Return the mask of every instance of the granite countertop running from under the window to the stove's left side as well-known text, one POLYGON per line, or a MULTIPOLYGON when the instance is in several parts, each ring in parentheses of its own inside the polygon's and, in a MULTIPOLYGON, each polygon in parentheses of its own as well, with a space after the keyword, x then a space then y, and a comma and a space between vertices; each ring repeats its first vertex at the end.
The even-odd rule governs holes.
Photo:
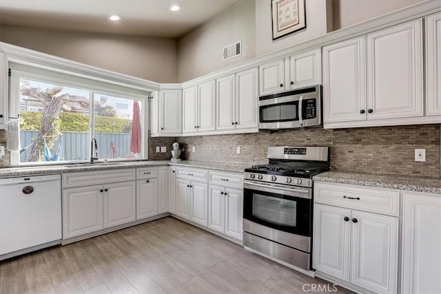
POLYGON ((0 178, 12 176, 32 176, 44 174, 64 174, 79 171, 103 171, 106 169, 128 169, 136 167, 159 167, 165 165, 176 165, 183 167, 197 167, 201 169, 215 169, 218 171, 231 171, 243 173, 244 169, 251 166, 240 163, 209 162, 196 160, 183 160, 170 162, 170 160, 141 160, 132 162, 97 162, 94 164, 79 163, 73 165, 45 165, 35 167, 7 167, 0 168, 0 178))

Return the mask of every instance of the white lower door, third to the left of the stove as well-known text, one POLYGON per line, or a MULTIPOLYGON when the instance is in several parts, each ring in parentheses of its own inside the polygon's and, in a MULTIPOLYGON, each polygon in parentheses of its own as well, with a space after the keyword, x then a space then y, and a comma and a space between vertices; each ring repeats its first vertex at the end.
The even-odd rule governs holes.
POLYGON ((201 182, 192 182, 190 184, 192 191, 192 218, 193 222, 197 222, 198 224, 202 224, 207 227, 208 224, 208 209, 207 209, 207 200, 208 200, 208 185, 203 184, 201 182))

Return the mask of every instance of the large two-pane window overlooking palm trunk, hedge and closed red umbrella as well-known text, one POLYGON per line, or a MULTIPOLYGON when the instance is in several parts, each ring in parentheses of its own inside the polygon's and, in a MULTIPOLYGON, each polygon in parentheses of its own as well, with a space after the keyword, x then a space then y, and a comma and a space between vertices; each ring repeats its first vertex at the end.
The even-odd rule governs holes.
POLYGON ((89 160, 92 138, 99 159, 147 158, 148 92, 25 65, 11 72, 10 113, 20 114, 21 143, 13 164, 89 160))

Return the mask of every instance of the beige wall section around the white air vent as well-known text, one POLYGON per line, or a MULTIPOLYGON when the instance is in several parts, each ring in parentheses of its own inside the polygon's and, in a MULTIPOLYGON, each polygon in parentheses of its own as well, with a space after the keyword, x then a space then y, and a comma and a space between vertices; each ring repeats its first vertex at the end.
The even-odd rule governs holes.
POLYGON ((254 0, 234 8, 178 39, 178 82, 252 59, 256 56, 254 0), (222 48, 242 40, 242 55, 222 61, 222 48))

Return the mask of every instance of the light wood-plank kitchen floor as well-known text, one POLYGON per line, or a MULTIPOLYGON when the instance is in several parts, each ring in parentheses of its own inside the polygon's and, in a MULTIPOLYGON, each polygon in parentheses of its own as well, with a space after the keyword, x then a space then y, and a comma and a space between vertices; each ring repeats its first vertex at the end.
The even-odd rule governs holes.
POLYGON ((304 284, 333 289, 171 217, 0 264, 1 294, 305 293, 304 284))

